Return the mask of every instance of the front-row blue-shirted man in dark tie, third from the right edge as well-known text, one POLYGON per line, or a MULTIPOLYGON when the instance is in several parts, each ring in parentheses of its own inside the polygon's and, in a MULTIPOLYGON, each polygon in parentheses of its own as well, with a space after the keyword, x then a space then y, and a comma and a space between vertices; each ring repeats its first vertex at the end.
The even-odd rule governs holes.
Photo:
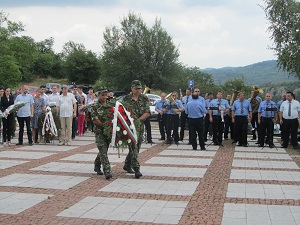
POLYGON ((235 133, 239 142, 238 146, 248 147, 248 116, 249 121, 251 121, 252 108, 250 102, 248 100, 245 100, 244 92, 239 93, 239 99, 234 101, 231 110, 232 123, 235 124, 235 133))

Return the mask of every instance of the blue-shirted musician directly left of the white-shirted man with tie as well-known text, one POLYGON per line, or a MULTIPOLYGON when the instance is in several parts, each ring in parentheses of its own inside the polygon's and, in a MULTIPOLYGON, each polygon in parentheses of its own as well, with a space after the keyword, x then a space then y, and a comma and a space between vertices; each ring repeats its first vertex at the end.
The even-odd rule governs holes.
POLYGON ((259 104, 258 107, 258 123, 260 124, 260 135, 259 135, 259 147, 263 147, 264 143, 267 143, 270 148, 274 148, 273 144, 273 132, 274 122, 277 121, 277 104, 271 101, 271 94, 267 93, 265 100, 259 104), (267 131, 267 138, 265 141, 267 131))

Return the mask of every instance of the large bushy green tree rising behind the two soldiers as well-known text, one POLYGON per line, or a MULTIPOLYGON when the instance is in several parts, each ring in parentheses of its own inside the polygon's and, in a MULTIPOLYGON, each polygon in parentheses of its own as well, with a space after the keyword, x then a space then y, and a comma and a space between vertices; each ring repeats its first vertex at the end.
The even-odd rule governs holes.
POLYGON ((120 28, 107 27, 103 37, 102 70, 108 86, 125 90, 139 79, 150 88, 166 89, 177 79, 179 52, 160 20, 149 28, 129 13, 120 28))

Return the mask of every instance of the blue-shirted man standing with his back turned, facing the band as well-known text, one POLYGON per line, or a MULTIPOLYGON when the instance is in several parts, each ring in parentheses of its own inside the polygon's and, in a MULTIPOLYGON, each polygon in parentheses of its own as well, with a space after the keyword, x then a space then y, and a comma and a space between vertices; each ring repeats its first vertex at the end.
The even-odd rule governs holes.
POLYGON ((201 150, 205 150, 203 138, 203 117, 207 113, 205 105, 198 101, 198 95, 193 94, 192 100, 187 104, 186 114, 189 118, 189 127, 191 134, 191 144, 193 150, 197 150, 197 133, 201 150))

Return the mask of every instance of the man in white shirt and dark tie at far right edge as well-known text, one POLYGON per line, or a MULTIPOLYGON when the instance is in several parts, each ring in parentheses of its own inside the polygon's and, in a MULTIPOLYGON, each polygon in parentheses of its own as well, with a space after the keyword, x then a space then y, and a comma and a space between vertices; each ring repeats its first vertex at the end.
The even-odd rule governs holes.
POLYGON ((299 126, 298 118, 300 117, 300 103, 295 100, 293 92, 286 93, 286 101, 280 106, 279 118, 283 131, 282 147, 287 148, 289 136, 294 149, 298 148, 297 131, 299 126))

